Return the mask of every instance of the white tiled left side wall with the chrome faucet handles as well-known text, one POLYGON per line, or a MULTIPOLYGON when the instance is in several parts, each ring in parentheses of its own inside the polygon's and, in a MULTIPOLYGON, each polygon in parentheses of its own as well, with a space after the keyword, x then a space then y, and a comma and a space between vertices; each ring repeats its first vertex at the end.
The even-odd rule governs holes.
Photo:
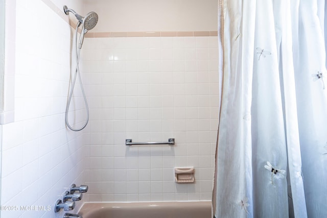
POLYGON ((2 126, 1 205, 18 210, 1 210, 1 217, 62 217, 55 202, 85 181, 89 130, 75 133, 64 124, 72 32, 42 1, 16 1, 15 122, 2 126))

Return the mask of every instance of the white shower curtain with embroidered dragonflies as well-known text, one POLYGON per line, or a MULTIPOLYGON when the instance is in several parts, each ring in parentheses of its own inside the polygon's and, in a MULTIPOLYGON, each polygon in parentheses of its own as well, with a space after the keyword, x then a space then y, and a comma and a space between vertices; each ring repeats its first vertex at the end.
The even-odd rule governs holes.
POLYGON ((219 0, 214 217, 327 217, 325 4, 219 0))

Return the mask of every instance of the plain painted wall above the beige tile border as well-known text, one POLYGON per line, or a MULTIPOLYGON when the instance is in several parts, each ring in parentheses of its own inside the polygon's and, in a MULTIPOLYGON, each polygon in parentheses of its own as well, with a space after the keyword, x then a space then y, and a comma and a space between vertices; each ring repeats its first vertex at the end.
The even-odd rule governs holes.
POLYGON ((216 0, 84 0, 95 32, 217 31, 216 0))

